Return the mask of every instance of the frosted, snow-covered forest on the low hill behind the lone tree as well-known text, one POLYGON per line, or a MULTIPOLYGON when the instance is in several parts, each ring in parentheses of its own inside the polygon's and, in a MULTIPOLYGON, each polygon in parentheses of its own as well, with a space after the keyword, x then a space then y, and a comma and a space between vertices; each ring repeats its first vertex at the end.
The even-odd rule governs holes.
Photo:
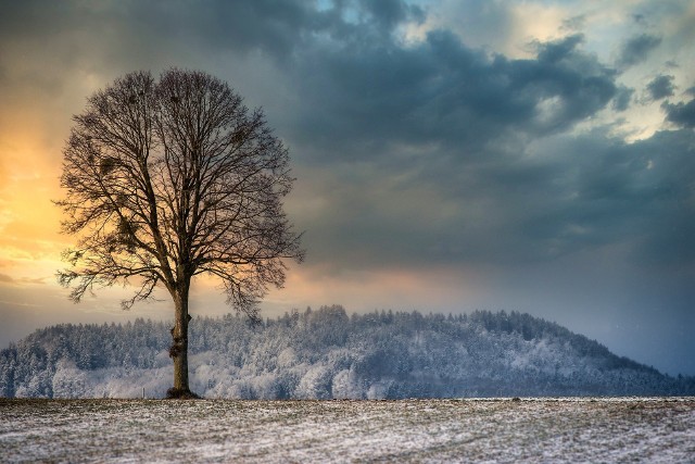
MULTIPOLYGON (((164 397, 170 324, 58 325, 0 351, 0 396, 164 397)), ((198 317, 193 391, 205 398, 382 399, 695 394, 557 324, 516 312, 445 316, 293 311, 252 325, 198 317)))

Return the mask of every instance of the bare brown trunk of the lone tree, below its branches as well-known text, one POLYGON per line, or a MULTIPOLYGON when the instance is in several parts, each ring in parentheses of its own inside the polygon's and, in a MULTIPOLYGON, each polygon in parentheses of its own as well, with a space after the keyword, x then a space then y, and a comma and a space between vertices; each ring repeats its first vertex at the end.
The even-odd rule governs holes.
POLYGON ((166 392, 167 398, 198 398, 188 386, 188 323, 191 319, 188 314, 189 288, 190 281, 182 283, 172 296, 175 317, 169 356, 174 361, 174 387, 166 392))

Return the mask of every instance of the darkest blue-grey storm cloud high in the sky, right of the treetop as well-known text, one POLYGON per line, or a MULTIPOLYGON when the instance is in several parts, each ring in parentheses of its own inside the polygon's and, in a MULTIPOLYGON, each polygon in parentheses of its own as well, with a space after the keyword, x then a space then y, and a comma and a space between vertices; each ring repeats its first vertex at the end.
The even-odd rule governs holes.
POLYGON ((581 42, 538 43, 529 60, 490 58, 441 30, 413 47, 392 39, 318 45, 299 67, 311 111, 298 133, 340 140, 343 150, 329 155, 372 158, 375 142, 455 146, 468 156, 509 133, 561 131, 618 91, 615 73, 581 42))

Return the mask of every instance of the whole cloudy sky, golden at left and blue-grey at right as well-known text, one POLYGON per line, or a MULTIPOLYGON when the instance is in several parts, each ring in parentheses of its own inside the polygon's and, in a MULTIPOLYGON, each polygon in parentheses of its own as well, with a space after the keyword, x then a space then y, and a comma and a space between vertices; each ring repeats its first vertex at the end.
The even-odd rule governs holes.
MULTIPOLYGON (((264 314, 341 303, 528 312, 695 375, 690 0, 0 0, 0 346, 74 305, 54 273, 62 149, 136 70, 203 70, 262 106, 306 230, 264 314)), ((165 298, 163 296, 163 298, 165 298)), ((193 314, 223 314, 195 285, 193 314)))

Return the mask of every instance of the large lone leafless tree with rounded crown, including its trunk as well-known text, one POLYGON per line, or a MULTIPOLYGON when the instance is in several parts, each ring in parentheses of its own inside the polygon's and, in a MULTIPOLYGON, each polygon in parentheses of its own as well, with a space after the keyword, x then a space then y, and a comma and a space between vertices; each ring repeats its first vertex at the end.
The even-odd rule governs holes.
POLYGON ((168 290, 174 387, 191 397, 188 325, 191 280, 217 277, 228 303, 257 318, 269 286, 281 287, 285 259, 303 259, 282 210, 292 187, 288 150, 260 110, 201 72, 169 70, 159 81, 138 72, 88 99, 64 149, 56 202, 62 230, 78 235, 58 273, 79 302, 86 292, 135 284, 129 309, 168 290))

